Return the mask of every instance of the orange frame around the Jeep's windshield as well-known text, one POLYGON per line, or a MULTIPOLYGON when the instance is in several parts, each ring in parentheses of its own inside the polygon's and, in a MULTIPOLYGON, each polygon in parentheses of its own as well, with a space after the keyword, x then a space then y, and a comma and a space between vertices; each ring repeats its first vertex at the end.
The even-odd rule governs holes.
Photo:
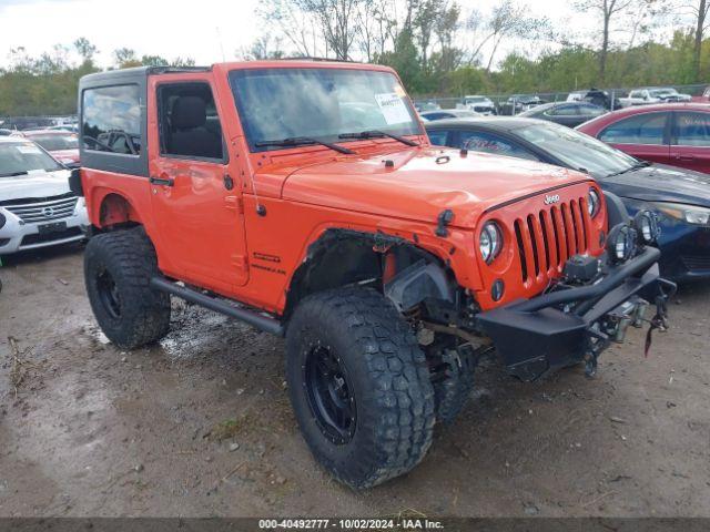
MULTIPOLYGON (((410 116, 410 122, 403 122, 402 124, 410 124, 412 125, 412 130, 414 132, 408 132, 405 131, 403 132, 403 127, 402 124, 394 124, 394 126, 387 126, 387 125, 378 125, 377 127, 372 127, 372 126, 367 126, 364 125, 363 127, 347 127, 347 129, 343 129, 343 131, 338 131, 335 134, 332 135, 313 135, 313 134, 304 134, 302 135, 301 133, 296 134, 296 135, 287 135, 290 136, 307 136, 311 139, 314 139, 316 141, 321 141, 321 142, 327 142, 327 143, 332 143, 332 144, 347 144, 347 143, 353 143, 353 142, 364 142, 364 141, 369 141, 371 140, 366 140, 366 139, 341 139, 338 135, 343 134, 343 133, 361 133, 362 131, 366 131, 366 130, 382 130, 385 132, 389 132, 389 133, 394 133, 404 137, 410 137, 410 136, 415 136, 415 137, 420 137, 420 136, 425 136, 424 133, 424 126, 422 124, 422 120, 419 119, 419 114, 415 109, 415 105, 412 101, 412 99, 409 98, 409 95, 404 91, 404 85, 402 83, 402 80, 399 79, 399 76, 397 75, 396 72, 394 72, 392 69, 388 68, 373 68, 372 65, 358 65, 358 64, 353 64, 353 65, 344 65, 344 64, 306 64, 304 65, 303 63, 294 63, 294 64, 283 64, 283 65, 278 65, 278 66, 254 66, 254 68, 239 68, 239 69, 231 69, 227 72, 227 81, 229 81, 229 85, 230 85, 230 90, 234 96, 234 103, 235 103, 235 108, 236 108, 236 113, 237 116, 240 119, 240 123, 242 126, 242 130, 244 132, 244 136, 246 140, 246 144, 248 146, 250 153, 264 153, 264 152, 274 152, 274 151, 298 151, 298 152, 303 152, 303 151, 307 151, 308 149, 313 149, 314 144, 301 144, 301 145, 292 145, 292 146, 260 146, 258 143, 260 142, 267 142, 267 141, 277 141, 277 140, 284 140, 287 136, 284 135, 283 139, 258 139, 257 136, 255 136, 253 134, 253 131, 251 131, 250 129, 250 123, 248 120, 246 119, 246 113, 243 112, 244 109, 246 109, 246 102, 244 101, 244 98, 242 96, 241 91, 239 90, 239 80, 242 76, 248 76, 248 75, 258 75, 258 73, 264 73, 264 72, 272 72, 272 71, 313 71, 313 72, 343 72, 343 71, 347 71, 347 72, 363 72, 366 74, 381 74, 381 75, 389 75, 394 79, 394 81, 396 82, 397 86, 399 89, 402 89, 403 91, 403 95, 400 95, 399 98, 402 99, 406 111, 408 112, 409 116, 410 116)), ((274 105, 283 105, 283 102, 281 101, 276 101, 274 100, 274 105)), ((436 110, 434 110, 436 111, 436 110)), ((384 140, 384 141, 392 141, 390 139, 387 139, 386 136, 383 139, 377 139, 379 140, 384 140)))

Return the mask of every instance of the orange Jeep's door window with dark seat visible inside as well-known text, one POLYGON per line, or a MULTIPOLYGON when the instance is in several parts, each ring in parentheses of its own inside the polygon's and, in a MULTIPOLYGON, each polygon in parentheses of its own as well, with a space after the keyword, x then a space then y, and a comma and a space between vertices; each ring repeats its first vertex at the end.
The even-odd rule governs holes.
POLYGON ((159 85, 158 120, 161 155, 224 161, 222 125, 209 83, 159 85))

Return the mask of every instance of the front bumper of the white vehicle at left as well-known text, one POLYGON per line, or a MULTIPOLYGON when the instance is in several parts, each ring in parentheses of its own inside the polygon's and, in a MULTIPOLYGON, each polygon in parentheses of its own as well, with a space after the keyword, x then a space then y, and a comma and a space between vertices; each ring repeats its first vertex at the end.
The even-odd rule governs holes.
POLYGON ((47 222, 23 222, 2 207, 0 211, 7 218, 6 224, 0 227, 0 255, 78 242, 85 238, 89 228, 83 198, 79 198, 71 215, 47 222), (51 223, 65 223, 67 227, 63 231, 40 234, 40 225, 51 223))

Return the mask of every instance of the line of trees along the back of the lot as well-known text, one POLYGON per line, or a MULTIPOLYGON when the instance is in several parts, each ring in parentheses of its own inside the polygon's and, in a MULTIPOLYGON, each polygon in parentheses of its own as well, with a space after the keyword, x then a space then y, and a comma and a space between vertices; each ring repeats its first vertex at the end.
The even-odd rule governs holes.
MULTIPOLYGON (((572 0, 594 20, 577 34, 523 0, 489 10, 465 0, 264 0, 263 33, 234 59, 322 57, 387 64, 416 96, 690 84, 710 80, 708 0, 572 0), (672 31, 668 31, 672 30, 672 31)), ((0 69, 0 115, 70 113, 77 83, 99 69, 84 38, 39 58, 10 51, 0 69)), ((190 65, 122 48, 111 68, 190 65)))

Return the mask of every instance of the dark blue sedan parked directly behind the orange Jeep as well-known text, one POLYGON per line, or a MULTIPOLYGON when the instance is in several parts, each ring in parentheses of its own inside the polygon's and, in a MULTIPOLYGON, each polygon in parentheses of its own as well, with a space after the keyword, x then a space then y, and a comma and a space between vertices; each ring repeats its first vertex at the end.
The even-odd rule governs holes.
POLYGON ((676 280, 710 278, 710 176, 639 161, 588 135, 523 117, 427 123, 433 144, 541 161, 587 172, 629 213, 661 222, 661 270, 676 280))

